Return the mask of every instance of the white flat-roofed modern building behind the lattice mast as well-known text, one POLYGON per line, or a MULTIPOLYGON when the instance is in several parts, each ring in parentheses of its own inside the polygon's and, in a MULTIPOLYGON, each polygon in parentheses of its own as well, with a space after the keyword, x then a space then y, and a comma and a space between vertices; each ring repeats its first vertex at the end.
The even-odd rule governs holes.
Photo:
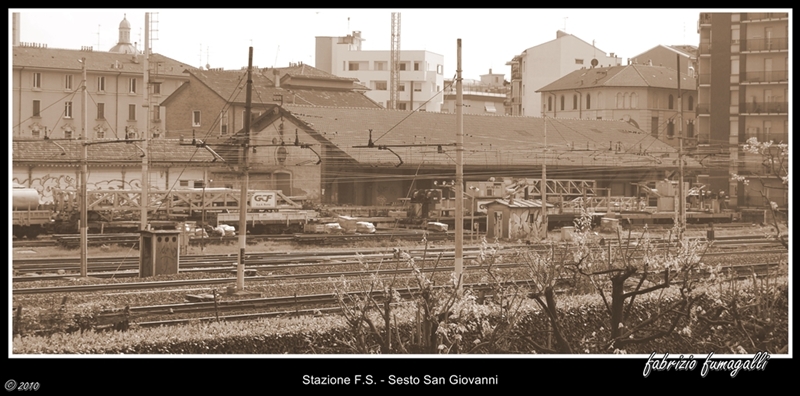
MULTIPOLYGON (((388 107, 391 51, 364 51, 361 32, 346 37, 318 36, 314 67, 339 77, 357 78, 367 97, 388 107)), ((440 111, 444 56, 430 51, 400 51, 398 110, 440 111)))

